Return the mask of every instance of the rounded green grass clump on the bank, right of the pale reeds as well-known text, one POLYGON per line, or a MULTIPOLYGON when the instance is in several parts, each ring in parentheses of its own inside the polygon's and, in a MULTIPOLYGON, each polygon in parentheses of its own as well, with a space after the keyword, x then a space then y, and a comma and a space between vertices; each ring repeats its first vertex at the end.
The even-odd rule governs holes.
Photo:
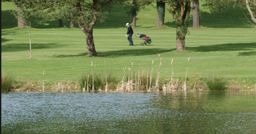
POLYGON ((228 81, 221 75, 208 75, 203 78, 203 81, 209 90, 222 91, 227 89, 226 85, 228 84, 228 81))

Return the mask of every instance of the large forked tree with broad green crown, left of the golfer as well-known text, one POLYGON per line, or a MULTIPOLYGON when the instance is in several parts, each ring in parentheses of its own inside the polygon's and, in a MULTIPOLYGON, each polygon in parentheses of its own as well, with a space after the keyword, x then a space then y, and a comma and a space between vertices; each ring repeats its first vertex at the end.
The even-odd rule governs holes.
POLYGON ((88 56, 97 55, 93 27, 113 4, 121 0, 35 0, 34 8, 43 10, 45 19, 61 18, 77 22, 85 34, 88 56), (47 15, 45 15, 47 14, 47 15))

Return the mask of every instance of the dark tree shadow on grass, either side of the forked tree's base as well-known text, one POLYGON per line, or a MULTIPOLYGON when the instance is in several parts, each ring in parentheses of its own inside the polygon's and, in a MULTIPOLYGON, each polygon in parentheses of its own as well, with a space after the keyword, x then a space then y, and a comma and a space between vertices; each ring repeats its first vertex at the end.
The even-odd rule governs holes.
MULTIPOLYGON (((176 49, 124 49, 124 50, 117 50, 117 51, 108 51, 103 52, 99 57, 122 57, 122 56, 141 56, 141 55, 155 55, 164 52, 171 52, 176 49)), ((87 56, 88 53, 80 53, 75 55, 54 55, 55 58, 66 58, 66 57, 75 57, 75 56, 87 56)))

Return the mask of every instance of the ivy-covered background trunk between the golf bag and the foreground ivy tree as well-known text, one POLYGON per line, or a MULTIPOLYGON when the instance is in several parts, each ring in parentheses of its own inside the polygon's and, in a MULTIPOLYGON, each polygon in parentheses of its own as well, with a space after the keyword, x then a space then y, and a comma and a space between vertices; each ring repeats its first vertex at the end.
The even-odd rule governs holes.
POLYGON ((157 10, 156 27, 162 27, 164 25, 164 18, 165 18, 165 2, 157 0, 156 10, 157 10))

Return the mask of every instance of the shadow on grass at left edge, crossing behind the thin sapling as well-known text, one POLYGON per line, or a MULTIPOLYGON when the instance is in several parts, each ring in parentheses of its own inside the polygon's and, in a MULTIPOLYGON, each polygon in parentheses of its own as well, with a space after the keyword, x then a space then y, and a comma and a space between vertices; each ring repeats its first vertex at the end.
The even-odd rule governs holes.
MULTIPOLYGON (((47 44, 39 44, 32 43, 31 48, 33 49, 46 49, 46 48, 58 48, 64 45, 58 45, 56 43, 47 43, 47 44)), ((19 43, 19 44, 8 44, 1 45, 1 52, 20 52, 20 51, 29 51, 29 43, 19 43)))

